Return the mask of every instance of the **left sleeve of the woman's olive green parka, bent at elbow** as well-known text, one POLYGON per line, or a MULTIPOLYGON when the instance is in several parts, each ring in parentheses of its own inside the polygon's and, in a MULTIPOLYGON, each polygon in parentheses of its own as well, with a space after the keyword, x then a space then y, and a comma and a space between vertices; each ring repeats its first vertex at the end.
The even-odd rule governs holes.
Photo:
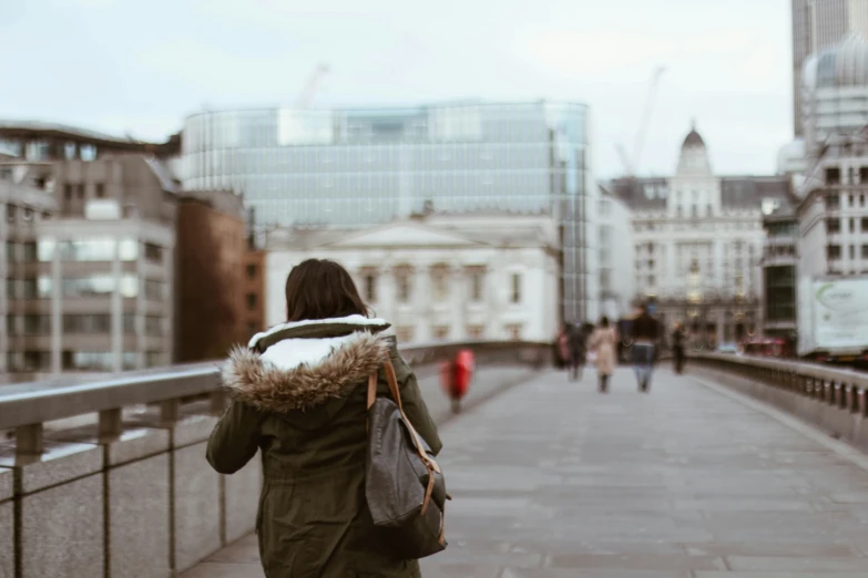
POLYGON ((208 438, 207 460, 221 474, 234 474, 259 448, 259 412, 242 402, 232 402, 208 438))

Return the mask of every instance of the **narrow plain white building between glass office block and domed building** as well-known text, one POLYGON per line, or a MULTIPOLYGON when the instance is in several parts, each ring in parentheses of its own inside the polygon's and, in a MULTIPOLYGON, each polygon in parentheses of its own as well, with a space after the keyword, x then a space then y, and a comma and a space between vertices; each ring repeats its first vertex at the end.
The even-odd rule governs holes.
MULTIPOLYGON (((632 310, 636 295, 635 252, 631 213, 626 204, 601 187, 598 200, 600 314, 621 319, 632 310)), ((589 321, 596 321, 589 319, 589 321)))

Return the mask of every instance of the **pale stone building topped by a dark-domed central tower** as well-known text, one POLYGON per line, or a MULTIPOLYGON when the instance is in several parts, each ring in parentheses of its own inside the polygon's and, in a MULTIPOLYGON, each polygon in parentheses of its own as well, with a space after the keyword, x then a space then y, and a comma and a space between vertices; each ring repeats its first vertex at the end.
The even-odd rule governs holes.
POLYGON ((675 175, 607 187, 632 210, 636 300, 684 322, 697 345, 743 341, 762 327, 763 216, 792 200, 777 176, 718 176, 694 127, 675 175))

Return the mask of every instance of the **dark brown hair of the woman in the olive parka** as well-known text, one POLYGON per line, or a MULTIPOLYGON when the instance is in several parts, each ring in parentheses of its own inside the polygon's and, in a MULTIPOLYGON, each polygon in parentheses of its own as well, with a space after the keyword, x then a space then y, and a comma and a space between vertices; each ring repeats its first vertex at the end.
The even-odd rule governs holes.
POLYGON ((286 320, 331 319, 368 314, 346 269, 327 259, 308 259, 286 278, 286 320))

